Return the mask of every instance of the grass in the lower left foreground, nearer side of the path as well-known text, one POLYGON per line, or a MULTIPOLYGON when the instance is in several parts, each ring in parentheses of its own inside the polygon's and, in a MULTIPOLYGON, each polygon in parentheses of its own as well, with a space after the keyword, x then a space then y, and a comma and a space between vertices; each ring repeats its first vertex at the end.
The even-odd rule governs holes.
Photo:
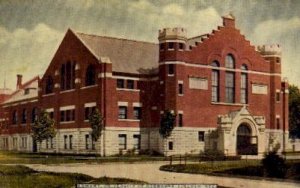
POLYGON ((146 184, 124 178, 93 178, 77 173, 38 172, 25 166, 0 165, 0 187, 74 187, 76 183, 146 184))

